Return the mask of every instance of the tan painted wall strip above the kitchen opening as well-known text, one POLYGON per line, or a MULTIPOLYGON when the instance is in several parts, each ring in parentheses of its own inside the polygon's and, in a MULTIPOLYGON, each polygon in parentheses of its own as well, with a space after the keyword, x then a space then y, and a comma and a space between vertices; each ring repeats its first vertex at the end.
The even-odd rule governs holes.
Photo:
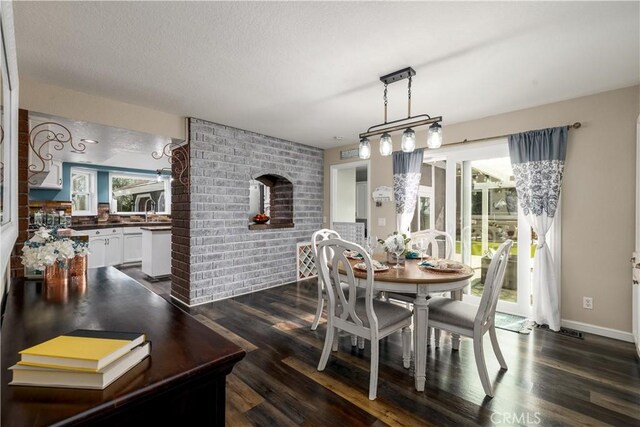
POLYGON ((182 116, 25 78, 20 78, 20 108, 185 139, 186 126, 182 116))

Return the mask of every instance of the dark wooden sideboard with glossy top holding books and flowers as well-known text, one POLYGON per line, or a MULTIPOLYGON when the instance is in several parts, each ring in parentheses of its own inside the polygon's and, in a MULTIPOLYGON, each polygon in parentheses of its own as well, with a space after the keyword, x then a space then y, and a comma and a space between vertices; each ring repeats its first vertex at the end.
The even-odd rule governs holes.
POLYGON ((2 426, 224 425, 226 375, 245 355, 113 267, 66 291, 15 280, 1 333, 2 426), (151 356, 104 390, 8 385, 19 350, 78 328, 144 332, 151 356))

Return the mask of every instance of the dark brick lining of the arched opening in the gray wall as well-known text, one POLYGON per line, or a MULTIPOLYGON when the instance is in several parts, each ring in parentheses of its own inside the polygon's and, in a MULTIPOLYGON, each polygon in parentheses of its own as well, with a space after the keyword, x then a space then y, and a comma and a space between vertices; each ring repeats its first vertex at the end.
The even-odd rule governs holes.
POLYGON ((250 224, 251 230, 293 227, 293 183, 286 177, 265 173, 253 179, 269 187, 270 220, 267 224, 250 224))

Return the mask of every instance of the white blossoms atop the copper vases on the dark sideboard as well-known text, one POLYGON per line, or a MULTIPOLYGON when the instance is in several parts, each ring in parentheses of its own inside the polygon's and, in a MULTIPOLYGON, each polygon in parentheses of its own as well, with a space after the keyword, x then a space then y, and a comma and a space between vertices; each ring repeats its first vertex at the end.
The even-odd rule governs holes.
POLYGON ((86 242, 60 237, 55 229, 41 227, 22 247, 22 264, 29 269, 44 270, 55 263, 66 266, 67 260, 76 255, 88 254, 86 242))

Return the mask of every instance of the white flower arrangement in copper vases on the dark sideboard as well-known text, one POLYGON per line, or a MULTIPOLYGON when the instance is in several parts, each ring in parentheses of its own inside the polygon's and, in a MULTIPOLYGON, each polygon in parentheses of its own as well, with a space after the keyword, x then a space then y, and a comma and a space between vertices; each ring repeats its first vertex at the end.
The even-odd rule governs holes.
POLYGON ((41 227, 24 243, 22 264, 44 272, 47 285, 66 285, 69 276, 84 276, 87 268, 87 242, 58 233, 58 229, 41 227))

